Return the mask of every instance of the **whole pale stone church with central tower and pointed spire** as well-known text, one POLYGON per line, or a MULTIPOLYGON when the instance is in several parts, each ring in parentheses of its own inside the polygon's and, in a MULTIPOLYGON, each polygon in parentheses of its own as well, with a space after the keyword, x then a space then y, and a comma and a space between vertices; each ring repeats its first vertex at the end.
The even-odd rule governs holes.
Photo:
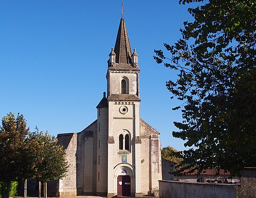
POLYGON ((140 118, 138 55, 131 51, 123 17, 106 69, 97 119, 79 133, 57 136, 70 167, 67 177, 49 184, 49 195, 137 197, 158 191, 160 134, 140 118))

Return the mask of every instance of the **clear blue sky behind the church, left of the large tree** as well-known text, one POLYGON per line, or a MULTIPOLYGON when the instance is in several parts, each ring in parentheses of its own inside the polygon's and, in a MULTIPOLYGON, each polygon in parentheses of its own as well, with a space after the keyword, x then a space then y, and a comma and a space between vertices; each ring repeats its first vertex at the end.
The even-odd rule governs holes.
MULTIPOLYGON (((172 137, 177 101, 165 82, 174 71, 153 59, 154 49, 180 38, 191 20, 178 0, 124 0, 131 47, 139 55, 140 116, 161 135, 162 147, 183 150, 172 137)), ((18 112, 51 135, 80 132, 97 118, 106 91, 108 55, 114 47, 121 0, 0 1, 0 117, 18 112)), ((180 103, 180 102, 178 102, 180 103)))

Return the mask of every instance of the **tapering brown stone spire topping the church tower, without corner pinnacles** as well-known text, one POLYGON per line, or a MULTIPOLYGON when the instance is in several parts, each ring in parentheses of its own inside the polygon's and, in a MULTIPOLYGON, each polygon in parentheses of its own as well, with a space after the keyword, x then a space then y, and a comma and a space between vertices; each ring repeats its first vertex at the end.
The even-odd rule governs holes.
POLYGON ((115 44, 116 63, 132 64, 132 50, 124 22, 121 18, 115 44))

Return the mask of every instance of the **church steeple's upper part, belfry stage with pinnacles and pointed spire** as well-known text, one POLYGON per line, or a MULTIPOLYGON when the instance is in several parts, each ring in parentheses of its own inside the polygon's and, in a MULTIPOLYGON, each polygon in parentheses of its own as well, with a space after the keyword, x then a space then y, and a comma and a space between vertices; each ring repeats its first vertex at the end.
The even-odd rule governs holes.
POLYGON ((106 74, 108 101, 140 101, 138 54, 132 54, 130 41, 122 17, 120 20, 115 48, 109 54, 106 74))

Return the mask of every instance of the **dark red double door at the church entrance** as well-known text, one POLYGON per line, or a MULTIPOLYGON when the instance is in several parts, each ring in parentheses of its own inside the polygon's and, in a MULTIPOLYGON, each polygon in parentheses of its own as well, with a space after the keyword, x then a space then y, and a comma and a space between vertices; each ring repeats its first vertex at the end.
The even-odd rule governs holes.
POLYGON ((131 196, 131 177, 117 177, 117 196, 131 196))

